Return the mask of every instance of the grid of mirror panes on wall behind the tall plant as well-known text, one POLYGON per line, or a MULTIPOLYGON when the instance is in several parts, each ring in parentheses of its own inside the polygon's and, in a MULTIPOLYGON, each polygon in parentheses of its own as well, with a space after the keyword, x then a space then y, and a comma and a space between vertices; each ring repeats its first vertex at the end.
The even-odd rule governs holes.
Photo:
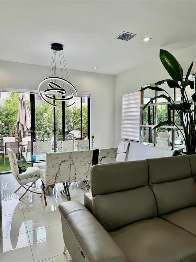
MULTIPOLYGON (((185 76, 183 77, 183 80, 185 80, 185 76)), ((186 94, 190 102, 192 102, 191 96, 196 92, 195 83, 196 83, 195 74, 189 75, 188 85, 185 90, 186 90, 186 94)), ((155 86, 154 84, 149 84, 149 85, 155 86)), ((142 86, 142 88, 148 87, 149 85, 142 86)), ((158 98, 157 101, 154 100, 152 104, 149 104, 149 106, 143 110, 143 104, 148 103, 156 95, 157 96, 160 96, 162 94, 166 96, 169 95, 171 96, 171 99, 174 100, 175 98, 175 101, 178 101, 175 104, 178 104, 178 103, 181 104, 183 102, 180 88, 170 88, 167 82, 164 82, 163 84, 159 85, 158 87, 167 91, 168 94, 164 91, 155 92, 151 89, 146 89, 143 92, 141 92, 140 143, 144 143, 148 145, 149 144, 151 145, 151 142, 153 143, 155 140, 153 126, 158 125, 164 121, 170 120, 172 122, 174 121, 175 125, 178 126, 183 132, 183 124, 182 124, 181 119, 185 121, 185 113, 180 111, 179 112, 180 115, 179 115, 177 111, 170 110, 169 109, 170 103, 164 97, 158 98)), ((192 104, 191 110, 193 110, 194 107, 195 107, 195 103, 192 104)), ((172 127, 175 127, 175 126, 173 124, 170 124, 170 125, 166 124, 166 127, 159 127, 156 129, 156 132, 155 132, 156 140, 157 140, 156 146, 167 148, 167 149, 171 149, 172 147, 183 148, 183 151, 186 151, 183 135, 179 132, 179 129, 172 128, 172 127), (174 134, 175 134, 175 137, 173 138, 174 134)))

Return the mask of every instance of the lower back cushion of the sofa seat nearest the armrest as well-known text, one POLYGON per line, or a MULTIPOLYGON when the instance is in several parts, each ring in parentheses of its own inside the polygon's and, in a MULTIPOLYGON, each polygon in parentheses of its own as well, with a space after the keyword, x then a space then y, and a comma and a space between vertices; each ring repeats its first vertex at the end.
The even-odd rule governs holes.
POLYGON ((92 199, 92 210, 107 231, 157 216, 155 197, 149 186, 96 195, 92 199))

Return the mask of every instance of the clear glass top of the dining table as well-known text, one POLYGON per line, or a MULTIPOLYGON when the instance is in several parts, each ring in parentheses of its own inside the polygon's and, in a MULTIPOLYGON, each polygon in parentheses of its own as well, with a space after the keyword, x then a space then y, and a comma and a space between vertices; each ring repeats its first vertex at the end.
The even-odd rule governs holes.
MULTIPOLYGON (((106 149, 108 147, 93 147, 93 150, 95 149, 106 149)), ((89 148, 77 148, 77 151, 81 150, 89 150, 89 148)), ((64 149, 63 152, 70 152, 70 151, 76 151, 76 149, 64 149)), ((51 150, 51 151, 41 151, 41 152, 22 152, 25 161, 27 164, 31 163, 39 163, 39 162, 45 162, 46 161, 46 153, 59 153, 58 150, 51 150)), ((117 153, 123 153, 122 151, 117 151, 117 153)))

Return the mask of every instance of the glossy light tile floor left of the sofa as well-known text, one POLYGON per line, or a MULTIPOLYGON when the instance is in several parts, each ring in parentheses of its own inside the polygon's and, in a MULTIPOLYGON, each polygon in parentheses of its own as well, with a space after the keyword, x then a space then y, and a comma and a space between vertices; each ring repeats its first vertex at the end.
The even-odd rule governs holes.
MULTIPOLYGON (((67 201, 61 193, 62 184, 56 184, 50 196, 46 196, 47 206, 43 196, 28 192, 18 201, 24 189, 16 194, 19 187, 12 174, 0 175, 1 182, 1 229, 0 249, 1 262, 67 262, 72 261, 69 252, 63 254, 64 242, 62 236, 61 217, 58 205, 67 201)), ((41 180, 36 182, 36 191, 41 191, 41 180)), ((84 204, 84 194, 72 183, 70 186, 71 200, 84 204)))

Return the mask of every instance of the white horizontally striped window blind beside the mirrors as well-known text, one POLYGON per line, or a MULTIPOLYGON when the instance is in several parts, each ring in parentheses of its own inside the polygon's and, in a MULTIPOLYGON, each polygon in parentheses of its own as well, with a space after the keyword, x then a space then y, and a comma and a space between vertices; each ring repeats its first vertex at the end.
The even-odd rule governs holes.
POLYGON ((139 141, 140 92, 123 95, 122 138, 139 141))

